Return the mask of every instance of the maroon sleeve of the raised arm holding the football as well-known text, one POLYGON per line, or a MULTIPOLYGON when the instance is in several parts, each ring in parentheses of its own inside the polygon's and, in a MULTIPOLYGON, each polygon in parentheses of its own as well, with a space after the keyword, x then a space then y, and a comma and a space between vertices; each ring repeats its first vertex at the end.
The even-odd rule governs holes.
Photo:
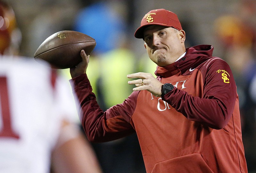
POLYGON ((92 142, 106 142, 122 138, 134 133, 134 129, 121 115, 124 104, 116 105, 106 110, 100 109, 95 94, 92 92, 87 75, 80 75, 70 80, 79 119, 88 139, 92 142))

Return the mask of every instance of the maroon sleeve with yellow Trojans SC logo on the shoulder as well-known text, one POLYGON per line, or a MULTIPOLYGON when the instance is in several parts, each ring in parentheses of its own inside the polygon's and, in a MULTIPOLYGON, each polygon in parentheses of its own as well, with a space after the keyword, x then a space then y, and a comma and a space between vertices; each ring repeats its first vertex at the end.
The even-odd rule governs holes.
POLYGON ((237 99, 236 84, 228 64, 220 59, 195 70, 204 83, 202 97, 174 88, 163 98, 189 120, 222 129, 232 116, 237 99))

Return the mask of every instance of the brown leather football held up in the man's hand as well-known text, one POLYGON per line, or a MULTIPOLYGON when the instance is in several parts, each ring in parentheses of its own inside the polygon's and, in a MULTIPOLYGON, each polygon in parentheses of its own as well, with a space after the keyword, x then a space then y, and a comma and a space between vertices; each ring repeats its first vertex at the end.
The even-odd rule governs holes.
POLYGON ((34 58, 47 61, 54 69, 67 69, 75 67, 82 61, 81 50, 84 49, 86 55, 90 55, 95 46, 96 41, 86 34, 59 31, 49 36, 38 47, 34 58))

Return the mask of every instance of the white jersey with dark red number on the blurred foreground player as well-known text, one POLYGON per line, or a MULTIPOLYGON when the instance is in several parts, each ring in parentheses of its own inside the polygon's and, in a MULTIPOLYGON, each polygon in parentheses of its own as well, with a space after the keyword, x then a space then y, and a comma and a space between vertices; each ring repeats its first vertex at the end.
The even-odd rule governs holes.
POLYGON ((46 173, 63 118, 77 120, 67 80, 33 58, 0 56, 0 172, 46 173))

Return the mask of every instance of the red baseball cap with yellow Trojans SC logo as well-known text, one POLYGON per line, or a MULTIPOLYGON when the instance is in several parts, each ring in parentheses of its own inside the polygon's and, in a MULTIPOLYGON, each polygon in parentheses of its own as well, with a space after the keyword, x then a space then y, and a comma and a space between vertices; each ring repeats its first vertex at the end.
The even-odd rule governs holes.
POLYGON ((182 30, 178 16, 172 11, 156 9, 149 11, 141 20, 140 27, 135 31, 136 38, 143 38, 143 32, 148 25, 162 25, 182 30))

